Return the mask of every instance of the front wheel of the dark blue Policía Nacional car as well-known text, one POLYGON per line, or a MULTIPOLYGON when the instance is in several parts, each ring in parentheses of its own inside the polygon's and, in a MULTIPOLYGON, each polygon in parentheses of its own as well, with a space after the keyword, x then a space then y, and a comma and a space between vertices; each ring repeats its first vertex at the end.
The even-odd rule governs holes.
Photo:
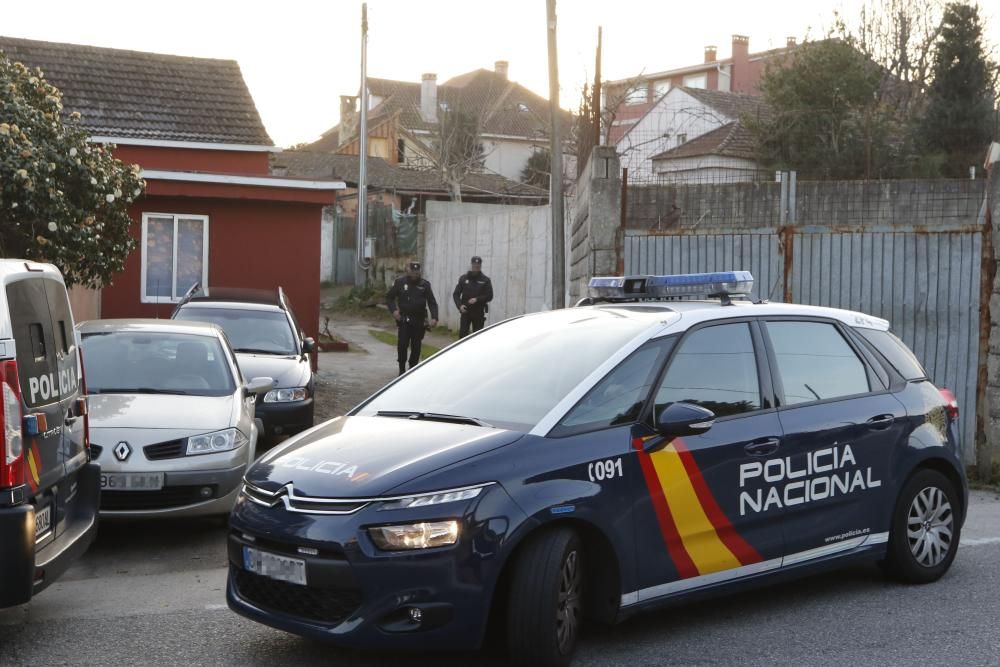
POLYGON ((507 648, 515 665, 568 665, 583 622, 584 553, 569 528, 522 547, 510 578, 507 648))

